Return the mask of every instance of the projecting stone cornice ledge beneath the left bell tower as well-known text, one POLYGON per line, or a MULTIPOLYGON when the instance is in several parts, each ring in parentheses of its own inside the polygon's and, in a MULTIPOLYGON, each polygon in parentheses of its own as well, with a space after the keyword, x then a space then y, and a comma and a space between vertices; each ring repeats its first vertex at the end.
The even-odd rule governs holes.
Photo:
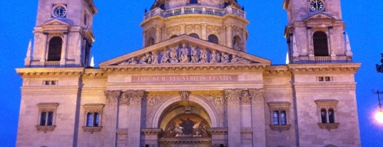
POLYGON ((17 74, 26 76, 81 76, 83 67, 73 68, 24 68, 16 69, 17 74))

